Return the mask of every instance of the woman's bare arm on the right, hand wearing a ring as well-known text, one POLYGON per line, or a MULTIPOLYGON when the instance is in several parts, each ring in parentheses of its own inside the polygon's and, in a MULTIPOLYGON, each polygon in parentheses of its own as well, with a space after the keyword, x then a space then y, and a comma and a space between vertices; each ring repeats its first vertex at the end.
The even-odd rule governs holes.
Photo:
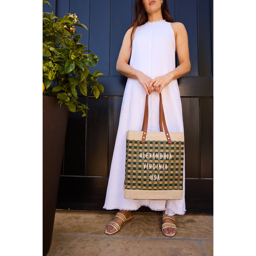
POLYGON ((171 23, 175 42, 176 42, 176 52, 179 60, 179 66, 167 73, 164 76, 157 76, 149 84, 149 89, 152 90, 152 86, 158 93, 162 92, 166 84, 171 83, 173 79, 177 79, 181 76, 187 74, 190 70, 190 60, 188 51, 188 35, 186 28, 180 22, 171 23), (159 85, 157 85, 159 84, 159 85))

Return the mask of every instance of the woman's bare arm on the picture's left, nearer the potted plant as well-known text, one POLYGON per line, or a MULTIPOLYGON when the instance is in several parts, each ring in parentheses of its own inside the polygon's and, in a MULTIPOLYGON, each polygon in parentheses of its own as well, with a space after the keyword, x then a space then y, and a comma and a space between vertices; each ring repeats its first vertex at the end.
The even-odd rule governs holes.
POLYGON ((116 70, 117 72, 121 73, 126 77, 138 79, 139 83, 143 86, 146 93, 149 95, 151 93, 151 89, 148 90, 148 85, 150 84, 152 79, 146 76, 141 71, 132 68, 128 64, 128 61, 132 53, 131 33, 132 33, 132 28, 128 29, 124 35, 123 44, 121 46, 119 56, 116 62, 116 70))

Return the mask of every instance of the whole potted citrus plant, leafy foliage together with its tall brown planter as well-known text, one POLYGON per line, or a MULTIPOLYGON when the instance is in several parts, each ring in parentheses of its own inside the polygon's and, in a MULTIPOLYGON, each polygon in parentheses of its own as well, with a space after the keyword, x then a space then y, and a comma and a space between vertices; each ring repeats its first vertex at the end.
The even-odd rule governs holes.
POLYGON ((88 107, 79 95, 87 96, 89 87, 98 98, 104 90, 97 81, 103 74, 88 69, 98 57, 78 42, 76 26, 87 29, 76 14, 59 19, 53 12, 43 13, 43 255, 52 241, 68 113, 85 116, 88 107))

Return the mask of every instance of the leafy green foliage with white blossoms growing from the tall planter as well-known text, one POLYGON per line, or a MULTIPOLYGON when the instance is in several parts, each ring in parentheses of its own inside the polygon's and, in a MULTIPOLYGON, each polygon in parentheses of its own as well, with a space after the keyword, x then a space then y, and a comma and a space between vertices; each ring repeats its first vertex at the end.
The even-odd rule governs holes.
MULTIPOLYGON (((51 5, 45 0, 43 4, 51 5)), ((53 12, 43 13, 43 94, 57 97, 60 105, 65 103, 69 111, 82 111, 85 116, 88 107, 77 101, 77 89, 87 96, 89 86, 98 98, 104 88, 97 78, 103 74, 90 73, 88 66, 95 66, 99 58, 78 42, 82 35, 74 36, 76 26, 87 29, 80 24, 76 13, 60 19, 53 12)))

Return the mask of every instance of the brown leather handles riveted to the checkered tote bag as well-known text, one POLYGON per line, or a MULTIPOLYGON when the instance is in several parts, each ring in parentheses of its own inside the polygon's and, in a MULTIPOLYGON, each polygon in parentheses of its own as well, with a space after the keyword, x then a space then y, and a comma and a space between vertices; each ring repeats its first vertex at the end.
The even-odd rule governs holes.
MULTIPOLYGON (((164 126, 164 132, 165 132, 166 139, 167 139, 169 144, 172 144, 172 140, 171 140, 171 137, 170 137, 170 134, 168 132, 167 125, 166 125, 166 122, 165 122, 164 107, 163 107, 163 100, 162 100, 162 94, 161 93, 159 93, 159 97, 160 97, 160 100, 159 100, 159 127, 160 127, 160 131, 163 132, 163 126, 164 126)), ((141 129, 141 131, 143 131, 141 143, 144 143, 145 140, 146 140, 147 130, 148 130, 148 94, 146 95, 146 101, 145 101, 144 118, 143 118, 143 124, 142 124, 142 129, 141 129)))

